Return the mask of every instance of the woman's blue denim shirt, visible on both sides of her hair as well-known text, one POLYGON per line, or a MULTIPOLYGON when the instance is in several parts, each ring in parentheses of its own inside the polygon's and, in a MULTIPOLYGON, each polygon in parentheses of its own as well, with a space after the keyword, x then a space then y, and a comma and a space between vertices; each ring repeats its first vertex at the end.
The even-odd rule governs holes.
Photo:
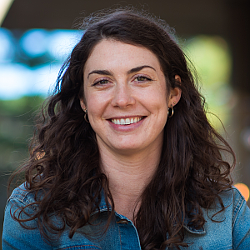
MULTIPOLYGON (((250 249, 250 209, 246 205, 246 201, 236 188, 224 191, 221 198, 226 209, 213 217, 214 220, 221 222, 211 220, 211 217, 220 210, 218 205, 203 211, 206 220, 204 229, 196 230, 188 226, 188 218, 186 218, 184 242, 190 243, 188 249, 250 249)), ((66 228, 60 237, 52 235, 53 240, 50 242, 45 241, 40 235, 35 220, 26 224, 34 227, 32 230, 28 230, 11 217, 10 209, 15 211, 32 202, 34 202, 34 195, 25 190, 24 185, 16 188, 8 199, 2 235, 3 250, 141 249, 134 224, 121 214, 115 213, 115 218, 111 221, 106 233, 101 234, 108 218, 104 199, 101 201, 101 214, 94 222, 95 225, 79 228, 71 239, 68 237, 69 228, 66 228)), ((32 213, 36 209, 36 206, 32 206, 26 212, 32 213)))

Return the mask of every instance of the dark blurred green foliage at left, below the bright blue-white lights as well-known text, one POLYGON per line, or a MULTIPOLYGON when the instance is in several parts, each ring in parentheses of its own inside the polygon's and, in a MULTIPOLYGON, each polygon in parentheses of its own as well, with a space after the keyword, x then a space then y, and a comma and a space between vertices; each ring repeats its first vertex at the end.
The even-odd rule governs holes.
POLYGON ((0 100, 0 170, 14 170, 28 157, 34 117, 44 98, 0 100))

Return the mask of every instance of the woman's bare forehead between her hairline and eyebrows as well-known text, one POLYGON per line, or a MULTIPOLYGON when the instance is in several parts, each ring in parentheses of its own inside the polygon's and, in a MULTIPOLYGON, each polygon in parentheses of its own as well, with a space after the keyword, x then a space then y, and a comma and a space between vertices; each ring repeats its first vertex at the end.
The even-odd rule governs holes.
POLYGON ((84 71, 93 68, 133 68, 140 65, 151 65, 160 70, 156 55, 149 49, 123 43, 116 40, 104 39, 99 42, 86 61, 84 71))

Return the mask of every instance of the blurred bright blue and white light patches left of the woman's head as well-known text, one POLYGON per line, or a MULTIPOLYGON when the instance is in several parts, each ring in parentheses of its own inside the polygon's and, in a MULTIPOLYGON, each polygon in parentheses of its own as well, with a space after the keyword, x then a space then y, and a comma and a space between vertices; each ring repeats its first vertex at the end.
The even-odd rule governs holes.
POLYGON ((0 99, 46 97, 82 31, 0 29, 0 99))

